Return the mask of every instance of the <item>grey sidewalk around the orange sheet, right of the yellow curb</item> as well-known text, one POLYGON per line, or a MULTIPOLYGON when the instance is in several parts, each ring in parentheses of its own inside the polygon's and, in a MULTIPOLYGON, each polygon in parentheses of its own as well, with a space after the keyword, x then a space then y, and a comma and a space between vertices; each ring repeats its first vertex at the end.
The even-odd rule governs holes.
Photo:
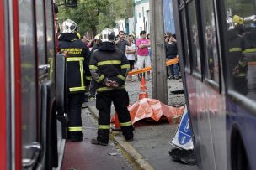
MULTIPOLYGON (((182 91, 183 85, 180 80, 168 80, 168 105, 169 106, 184 106, 184 94, 173 94, 174 91, 182 91), (172 93, 172 92, 173 93, 172 93)), ((130 104, 138 100, 140 93, 140 81, 130 82, 125 84, 126 90, 129 93, 130 104)), ((152 81, 147 82, 147 92, 149 98, 152 97, 152 81)), ((135 124, 134 141, 130 142, 131 146, 141 154, 141 156, 154 168, 159 170, 172 169, 197 169, 196 166, 184 165, 179 162, 174 162, 168 155, 170 149, 170 140, 173 137, 178 124, 169 125, 168 121, 139 121, 135 124)), ((121 134, 119 134, 121 137, 121 134)))

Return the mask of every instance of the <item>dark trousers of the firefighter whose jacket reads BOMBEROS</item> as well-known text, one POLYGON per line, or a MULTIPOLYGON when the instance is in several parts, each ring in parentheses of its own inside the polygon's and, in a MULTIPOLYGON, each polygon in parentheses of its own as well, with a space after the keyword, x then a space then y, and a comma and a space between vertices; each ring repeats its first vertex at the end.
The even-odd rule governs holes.
POLYGON ((69 94, 67 99, 68 134, 70 137, 82 137, 83 93, 69 94))

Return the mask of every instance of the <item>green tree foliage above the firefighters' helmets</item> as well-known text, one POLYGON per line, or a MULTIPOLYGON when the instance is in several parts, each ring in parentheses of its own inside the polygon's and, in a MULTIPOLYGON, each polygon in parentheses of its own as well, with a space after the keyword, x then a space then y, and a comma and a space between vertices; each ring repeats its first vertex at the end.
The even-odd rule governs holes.
POLYGON ((77 8, 59 8, 59 23, 67 18, 75 21, 79 33, 95 36, 103 28, 115 28, 115 21, 131 15, 131 0, 79 0, 77 8))

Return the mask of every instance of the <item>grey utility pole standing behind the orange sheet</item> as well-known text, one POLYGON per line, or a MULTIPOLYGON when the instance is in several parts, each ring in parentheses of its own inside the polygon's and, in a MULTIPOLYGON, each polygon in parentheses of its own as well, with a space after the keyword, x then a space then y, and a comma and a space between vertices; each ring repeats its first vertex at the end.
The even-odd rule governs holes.
POLYGON ((152 98, 168 104, 166 80, 163 0, 149 0, 150 7, 150 39, 152 48, 152 98))

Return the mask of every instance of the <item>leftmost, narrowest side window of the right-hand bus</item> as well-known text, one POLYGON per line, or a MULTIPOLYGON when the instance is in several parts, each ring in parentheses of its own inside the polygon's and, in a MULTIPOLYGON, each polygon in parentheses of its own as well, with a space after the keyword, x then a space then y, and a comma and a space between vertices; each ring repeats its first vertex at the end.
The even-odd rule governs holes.
POLYGON ((183 39, 184 39, 184 61, 185 61, 185 67, 190 70, 190 59, 189 59, 189 42, 188 42, 188 31, 187 31, 187 24, 186 24, 186 18, 185 18, 185 10, 183 9, 183 12, 181 14, 182 17, 182 23, 184 25, 183 27, 183 39))

